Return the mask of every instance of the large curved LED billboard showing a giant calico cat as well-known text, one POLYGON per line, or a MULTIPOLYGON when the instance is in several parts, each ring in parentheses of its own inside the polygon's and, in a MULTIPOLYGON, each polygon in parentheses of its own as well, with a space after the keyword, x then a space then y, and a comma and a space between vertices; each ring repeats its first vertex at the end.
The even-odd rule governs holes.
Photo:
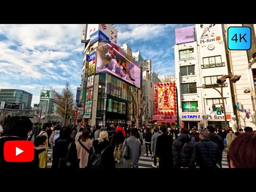
POLYGON ((113 43, 99 43, 95 73, 113 74, 140 88, 140 65, 113 43))

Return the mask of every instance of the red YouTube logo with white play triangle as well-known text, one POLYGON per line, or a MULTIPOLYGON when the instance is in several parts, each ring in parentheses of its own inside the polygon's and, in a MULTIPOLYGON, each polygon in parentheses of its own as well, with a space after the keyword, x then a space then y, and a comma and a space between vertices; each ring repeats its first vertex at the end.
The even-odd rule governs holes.
POLYGON ((31 141, 6 141, 4 160, 7 162, 31 162, 34 159, 34 143, 31 141))

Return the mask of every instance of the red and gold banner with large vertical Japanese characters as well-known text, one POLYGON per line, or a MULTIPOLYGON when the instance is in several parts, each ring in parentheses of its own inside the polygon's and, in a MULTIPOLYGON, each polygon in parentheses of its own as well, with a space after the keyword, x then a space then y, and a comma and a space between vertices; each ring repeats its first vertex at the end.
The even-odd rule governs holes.
POLYGON ((155 115, 177 114, 175 82, 155 84, 155 115))

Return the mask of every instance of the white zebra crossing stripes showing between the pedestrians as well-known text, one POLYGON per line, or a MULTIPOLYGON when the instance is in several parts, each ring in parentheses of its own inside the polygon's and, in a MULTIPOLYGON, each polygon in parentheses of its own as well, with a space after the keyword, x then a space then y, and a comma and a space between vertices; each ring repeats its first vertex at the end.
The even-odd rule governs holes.
MULTIPOLYGON (((147 154, 141 155, 139 158, 139 168, 154 168, 152 165, 154 165, 154 159, 151 159, 151 156, 149 154, 149 157, 146 157, 147 154)), ((228 161, 227 161, 227 153, 223 151, 222 153, 222 162, 221 162, 222 168, 228 168, 228 161)), ((159 163, 157 161, 157 167, 159 166, 159 163)))

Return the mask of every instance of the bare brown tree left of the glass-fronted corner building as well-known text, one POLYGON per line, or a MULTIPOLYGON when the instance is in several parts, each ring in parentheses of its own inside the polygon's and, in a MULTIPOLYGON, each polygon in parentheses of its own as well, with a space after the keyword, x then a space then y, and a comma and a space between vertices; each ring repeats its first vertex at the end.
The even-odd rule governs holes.
POLYGON ((58 104, 59 107, 57 108, 57 113, 63 117, 63 122, 67 123, 69 115, 74 114, 75 107, 74 93, 71 91, 69 82, 65 83, 65 87, 62 89, 62 94, 59 98, 58 104))

